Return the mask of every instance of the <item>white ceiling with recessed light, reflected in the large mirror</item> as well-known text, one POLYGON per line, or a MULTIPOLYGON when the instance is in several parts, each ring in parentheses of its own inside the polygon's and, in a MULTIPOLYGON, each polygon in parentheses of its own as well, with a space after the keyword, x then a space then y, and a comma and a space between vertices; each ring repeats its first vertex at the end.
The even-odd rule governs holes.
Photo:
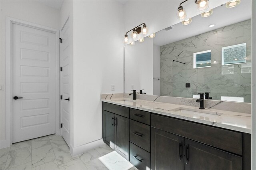
POLYGON ((241 3, 234 8, 226 8, 225 4, 223 6, 218 6, 213 9, 213 14, 209 17, 203 18, 198 15, 192 18, 192 23, 189 25, 184 26, 182 23, 178 23, 172 26, 171 30, 157 32, 156 37, 154 38, 154 44, 159 46, 166 45, 168 43, 177 42, 185 38, 248 20, 252 17, 251 9, 252 5, 250 0, 241 1, 241 3), (215 24, 215 26, 210 28, 208 27, 210 24, 215 24))

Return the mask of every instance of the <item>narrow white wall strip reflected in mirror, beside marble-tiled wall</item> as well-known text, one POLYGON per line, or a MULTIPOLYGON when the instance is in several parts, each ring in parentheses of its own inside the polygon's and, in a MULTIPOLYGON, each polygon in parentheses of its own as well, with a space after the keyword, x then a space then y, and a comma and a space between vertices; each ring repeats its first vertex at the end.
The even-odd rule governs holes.
POLYGON ((160 46, 153 46, 153 95, 160 96, 160 46))

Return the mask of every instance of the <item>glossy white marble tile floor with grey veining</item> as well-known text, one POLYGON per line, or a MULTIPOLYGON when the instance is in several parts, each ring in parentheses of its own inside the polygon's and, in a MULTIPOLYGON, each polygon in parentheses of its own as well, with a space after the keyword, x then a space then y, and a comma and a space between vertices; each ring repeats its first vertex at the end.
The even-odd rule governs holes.
POLYGON ((0 170, 137 170, 106 144, 72 157, 55 134, 12 144, 0 154, 0 170))

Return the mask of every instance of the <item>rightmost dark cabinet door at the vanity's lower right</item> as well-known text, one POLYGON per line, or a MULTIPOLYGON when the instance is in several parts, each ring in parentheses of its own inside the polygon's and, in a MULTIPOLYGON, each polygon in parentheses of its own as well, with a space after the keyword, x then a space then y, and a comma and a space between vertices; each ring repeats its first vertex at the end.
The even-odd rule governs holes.
POLYGON ((242 157, 185 138, 185 170, 242 170, 242 157))

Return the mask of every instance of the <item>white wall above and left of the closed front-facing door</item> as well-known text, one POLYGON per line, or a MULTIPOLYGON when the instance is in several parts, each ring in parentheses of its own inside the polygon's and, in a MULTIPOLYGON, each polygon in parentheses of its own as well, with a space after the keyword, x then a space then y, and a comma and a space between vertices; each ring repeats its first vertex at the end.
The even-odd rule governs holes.
POLYGON ((0 84, 3 85, 3 91, 0 92, 1 94, 1 110, 0 110, 0 119, 1 119, 1 148, 3 144, 9 143, 6 139, 6 130, 10 130, 9 127, 6 127, 6 82, 5 82, 5 75, 6 75, 6 16, 17 18, 20 20, 24 20, 27 22, 32 22, 34 24, 39 24, 42 26, 47 26, 54 29, 59 29, 59 20, 60 20, 60 12, 54 8, 50 8, 44 4, 41 4, 36 1, 19 1, 19 0, 1 0, 1 78, 0 84))

